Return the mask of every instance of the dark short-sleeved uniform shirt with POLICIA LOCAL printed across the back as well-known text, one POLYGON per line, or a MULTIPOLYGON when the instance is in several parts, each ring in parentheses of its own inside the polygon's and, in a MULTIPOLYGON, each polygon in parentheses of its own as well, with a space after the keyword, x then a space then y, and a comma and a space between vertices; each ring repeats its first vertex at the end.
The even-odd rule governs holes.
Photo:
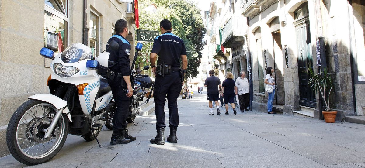
POLYGON ((167 31, 154 39, 151 53, 158 54, 158 64, 165 62, 165 65, 180 67, 181 55, 186 55, 186 48, 183 39, 167 31))

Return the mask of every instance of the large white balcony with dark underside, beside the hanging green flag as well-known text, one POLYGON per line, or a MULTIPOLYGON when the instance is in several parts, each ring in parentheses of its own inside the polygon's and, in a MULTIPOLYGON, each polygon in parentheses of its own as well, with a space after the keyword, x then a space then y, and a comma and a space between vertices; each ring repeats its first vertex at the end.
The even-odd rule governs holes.
POLYGON ((222 30, 222 45, 225 48, 236 48, 244 44, 246 26, 245 17, 232 16, 222 30))

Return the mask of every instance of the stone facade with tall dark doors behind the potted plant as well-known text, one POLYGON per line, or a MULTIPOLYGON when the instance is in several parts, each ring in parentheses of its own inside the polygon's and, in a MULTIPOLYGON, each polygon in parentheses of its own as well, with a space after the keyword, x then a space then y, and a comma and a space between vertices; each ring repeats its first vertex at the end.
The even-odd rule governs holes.
POLYGON ((266 67, 274 67, 274 109, 285 115, 322 118, 320 97, 308 85, 308 69, 328 67, 334 78, 331 107, 338 121, 364 112, 365 2, 360 0, 241 0, 248 19, 253 109, 267 110, 266 67), (318 57, 317 40, 325 55, 318 57), (351 75, 354 73, 354 75, 351 75))

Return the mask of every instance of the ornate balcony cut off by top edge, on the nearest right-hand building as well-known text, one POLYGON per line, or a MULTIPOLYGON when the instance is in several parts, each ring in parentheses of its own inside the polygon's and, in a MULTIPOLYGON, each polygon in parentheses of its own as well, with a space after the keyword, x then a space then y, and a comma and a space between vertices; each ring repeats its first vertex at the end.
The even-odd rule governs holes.
POLYGON ((245 17, 253 17, 262 10, 263 7, 278 2, 278 0, 241 0, 241 12, 245 17))

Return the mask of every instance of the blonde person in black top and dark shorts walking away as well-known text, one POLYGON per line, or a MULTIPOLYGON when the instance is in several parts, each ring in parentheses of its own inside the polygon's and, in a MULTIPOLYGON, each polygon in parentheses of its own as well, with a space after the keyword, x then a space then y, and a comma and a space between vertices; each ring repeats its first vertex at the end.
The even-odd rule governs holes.
POLYGON ((231 104, 231 107, 233 108, 234 115, 237 114, 234 104, 234 88, 235 88, 235 82, 233 80, 233 74, 230 72, 227 72, 226 74, 227 79, 225 79, 222 83, 222 97, 224 99, 224 106, 226 107, 226 113, 228 114, 228 103, 231 104))

